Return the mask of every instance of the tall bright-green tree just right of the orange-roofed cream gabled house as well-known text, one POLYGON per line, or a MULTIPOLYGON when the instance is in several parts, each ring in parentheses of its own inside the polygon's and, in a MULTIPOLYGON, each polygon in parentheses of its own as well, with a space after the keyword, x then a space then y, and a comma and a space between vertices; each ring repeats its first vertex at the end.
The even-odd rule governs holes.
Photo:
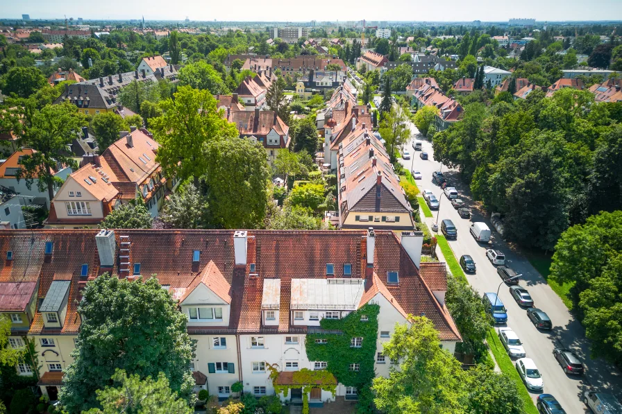
POLYGON ((197 186, 208 171, 208 142, 238 137, 237 129, 218 114, 216 99, 207 90, 181 86, 175 99, 162 101, 160 107, 164 114, 149 120, 161 145, 158 162, 170 176, 194 177, 197 186))

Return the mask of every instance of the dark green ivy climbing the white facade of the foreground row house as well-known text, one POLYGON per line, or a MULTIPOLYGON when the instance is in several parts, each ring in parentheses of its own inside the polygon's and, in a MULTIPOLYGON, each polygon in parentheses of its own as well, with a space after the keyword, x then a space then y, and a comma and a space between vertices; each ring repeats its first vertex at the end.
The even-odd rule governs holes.
POLYGON ((360 413, 371 412, 371 381, 376 376, 376 341, 378 340, 377 304, 366 304, 343 319, 322 319, 322 329, 339 334, 307 334, 305 347, 309 361, 326 361, 328 372, 344 386, 356 387, 360 413), (365 318, 367 317, 367 318, 365 318), (352 338, 363 338, 361 347, 351 347, 352 338), (316 343, 325 339, 326 343, 316 343), (350 365, 359 364, 353 371, 350 365))

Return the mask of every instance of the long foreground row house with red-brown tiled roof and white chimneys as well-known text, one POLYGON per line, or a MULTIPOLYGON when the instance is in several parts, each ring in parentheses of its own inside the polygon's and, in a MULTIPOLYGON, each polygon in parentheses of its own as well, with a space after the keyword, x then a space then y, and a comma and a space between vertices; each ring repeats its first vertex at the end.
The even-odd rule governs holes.
MULTIPOLYGON (((378 334, 351 343, 373 341, 376 372, 386 376, 383 343, 409 314, 430 318, 449 352, 461 340, 444 301, 445 265, 421 263, 422 242, 420 232, 371 228, 0 230, 0 255, 7 258, 0 263, 0 312, 10 314, 10 346, 35 340, 37 372, 28 361, 16 370, 36 374, 52 400, 73 361, 81 292, 104 272, 134 281, 157 275, 196 340, 190 363, 195 389, 219 399, 229 397, 237 381, 244 393, 273 394, 269 366, 278 370, 280 385, 292 385, 292 372, 303 368, 330 371, 327 361, 308 359, 306 335, 323 332, 322 319, 345 318, 365 304, 380 308, 378 334), (295 258, 288 253, 301 251, 295 258)), ((310 402, 335 398, 319 385, 310 390, 310 402)), ((355 398, 357 390, 346 385, 338 384, 337 398, 355 398)), ((291 391, 279 397, 302 397, 300 389, 291 391)))

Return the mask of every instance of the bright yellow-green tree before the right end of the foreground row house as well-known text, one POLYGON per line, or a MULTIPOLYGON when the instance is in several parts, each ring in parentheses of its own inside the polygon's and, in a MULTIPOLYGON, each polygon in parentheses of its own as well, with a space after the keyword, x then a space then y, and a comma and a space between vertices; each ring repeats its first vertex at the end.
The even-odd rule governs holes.
POLYGON ((376 407, 387 414, 464 413, 465 374, 460 362, 441 347, 439 334, 425 317, 396 325, 384 344, 385 358, 399 361, 389 378, 376 377, 372 389, 376 407))

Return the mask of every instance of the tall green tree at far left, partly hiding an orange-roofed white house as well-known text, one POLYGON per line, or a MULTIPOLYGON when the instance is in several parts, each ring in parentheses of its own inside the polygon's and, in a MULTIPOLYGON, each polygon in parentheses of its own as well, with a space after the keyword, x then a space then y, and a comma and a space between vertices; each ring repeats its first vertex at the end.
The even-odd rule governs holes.
POLYGON ((22 168, 17 170, 17 180, 24 179, 26 187, 31 188, 37 180, 39 191, 47 189, 48 196, 54 198, 54 188, 62 185, 62 180, 54 171, 58 163, 76 169, 76 161, 67 155, 67 146, 72 144, 77 131, 86 125, 78 114, 78 108, 69 102, 46 105, 26 116, 24 128, 19 132, 19 143, 36 150, 33 155, 24 155, 22 168))

